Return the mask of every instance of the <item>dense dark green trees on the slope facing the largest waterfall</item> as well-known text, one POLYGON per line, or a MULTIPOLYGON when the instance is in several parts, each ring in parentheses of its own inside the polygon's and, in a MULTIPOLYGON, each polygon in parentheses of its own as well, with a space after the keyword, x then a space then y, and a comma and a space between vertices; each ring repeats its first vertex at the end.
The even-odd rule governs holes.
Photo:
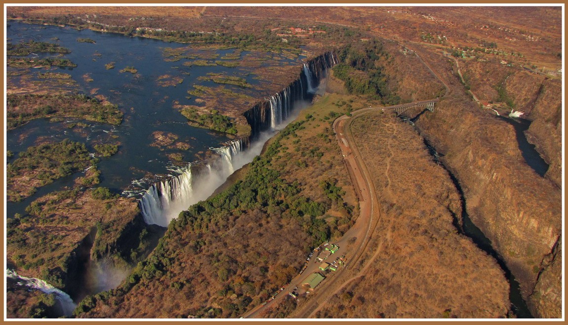
POLYGON ((206 232, 209 224, 227 218, 227 213, 240 215, 245 211, 260 210, 295 219, 312 237, 312 245, 318 245, 329 239, 331 230, 325 220, 318 217, 329 209, 331 202, 314 202, 299 195, 298 182, 287 183, 271 165, 272 158, 281 150, 279 140, 303 128, 303 123, 304 121, 291 123, 282 130, 275 141, 266 148, 265 155, 253 160, 244 180, 236 182, 219 195, 199 202, 187 211, 182 211, 178 219, 172 221, 170 227, 174 229, 189 227, 193 231, 206 232))

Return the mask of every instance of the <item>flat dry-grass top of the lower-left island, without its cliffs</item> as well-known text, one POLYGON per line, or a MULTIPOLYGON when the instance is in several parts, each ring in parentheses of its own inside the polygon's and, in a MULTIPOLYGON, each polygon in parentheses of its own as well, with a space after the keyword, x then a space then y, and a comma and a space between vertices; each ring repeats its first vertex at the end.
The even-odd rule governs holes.
POLYGON ((11 229, 7 261, 17 266, 18 274, 37 278, 44 278, 53 269, 66 272, 97 222, 107 225, 107 230, 96 240, 110 244, 139 213, 137 203, 131 199, 98 200, 91 197, 90 191, 69 191, 67 195, 55 192, 34 204, 39 206, 39 213, 31 212, 11 229), (40 260, 44 262, 38 264, 40 260))

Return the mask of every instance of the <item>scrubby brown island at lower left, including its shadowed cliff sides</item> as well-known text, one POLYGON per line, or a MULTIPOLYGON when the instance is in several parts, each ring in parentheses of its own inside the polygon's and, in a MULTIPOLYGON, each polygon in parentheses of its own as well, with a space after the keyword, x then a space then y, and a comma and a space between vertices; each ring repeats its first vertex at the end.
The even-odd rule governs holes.
MULTIPOLYGON (((22 276, 38 277, 69 293, 85 276, 86 261, 105 261, 115 272, 127 272, 140 259, 153 231, 141 220, 132 199, 101 195, 95 190, 50 193, 32 202, 26 216, 9 219, 7 264, 22 276), (145 232, 143 228, 148 228, 145 232), (145 237, 140 236, 144 232, 145 237), (132 249, 132 251, 131 251, 132 249), (134 253, 132 253, 134 252, 134 253)), ((88 276, 88 275, 87 275, 88 276)), ((109 276, 110 278, 111 276, 109 276)), ((86 285, 96 286, 95 279, 86 285)))

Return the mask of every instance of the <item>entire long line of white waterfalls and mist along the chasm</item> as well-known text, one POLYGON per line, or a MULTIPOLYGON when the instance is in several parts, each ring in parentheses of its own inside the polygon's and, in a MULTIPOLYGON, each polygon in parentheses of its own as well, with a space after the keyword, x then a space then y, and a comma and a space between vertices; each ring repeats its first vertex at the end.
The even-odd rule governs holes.
POLYGON ((306 62, 298 80, 247 111, 244 115, 252 128, 250 143, 248 139, 239 139, 225 147, 210 148, 218 155, 216 159, 174 170, 177 176, 153 184, 140 199, 145 222, 167 227, 181 211, 207 199, 235 170, 260 155, 266 140, 309 105, 315 87, 336 61, 333 53, 327 52, 306 62))

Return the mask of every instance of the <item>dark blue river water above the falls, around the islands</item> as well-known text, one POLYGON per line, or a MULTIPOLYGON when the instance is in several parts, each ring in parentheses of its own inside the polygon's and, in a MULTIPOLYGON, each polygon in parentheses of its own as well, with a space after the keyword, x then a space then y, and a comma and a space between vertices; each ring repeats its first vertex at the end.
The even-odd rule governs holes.
MULTIPOLYGON (((121 192, 126 188, 132 188, 132 182, 138 184, 140 190, 146 189, 151 180, 148 176, 153 174, 168 174, 172 167, 172 161, 168 154, 181 153, 183 161, 191 163, 203 157, 210 147, 220 147, 229 138, 219 132, 205 130, 202 128, 190 127, 187 125, 186 118, 176 109, 173 109, 174 102, 180 105, 202 104, 196 102, 195 96, 187 93, 193 90, 193 85, 203 85, 218 87, 212 81, 199 80, 200 76, 207 73, 225 73, 227 76, 241 77, 251 85, 263 88, 266 81, 259 80, 256 74, 251 73, 246 67, 225 67, 225 66, 187 66, 183 65, 187 61, 203 59, 181 58, 172 61, 164 55, 164 48, 179 49, 184 48, 187 55, 215 55, 217 58, 206 59, 208 61, 227 61, 222 57, 235 52, 233 49, 227 50, 206 50, 199 51, 187 48, 187 44, 166 43, 160 40, 146 38, 130 38, 120 34, 108 34, 90 30, 77 31, 71 27, 56 26, 37 26, 23 24, 19 22, 10 23, 7 27, 7 39, 10 43, 16 44, 20 41, 46 41, 57 43, 62 47, 71 50, 71 53, 62 57, 73 61, 78 66, 76 68, 51 68, 51 72, 64 72, 72 76, 77 82, 76 89, 80 93, 90 96, 103 95, 111 103, 119 105, 119 109, 124 113, 124 120, 120 126, 111 126, 96 122, 81 121, 77 119, 65 119, 62 122, 49 122, 47 119, 34 120, 25 126, 7 132, 7 149, 15 153, 25 151, 31 145, 36 145, 45 139, 60 141, 71 139, 81 141, 91 148, 96 143, 119 144, 119 152, 110 157, 103 158, 98 164, 101 170, 101 186, 106 186, 121 192), (77 39, 89 38, 96 43, 81 43, 77 39), (187 49, 185 49, 187 48, 187 49), (114 69, 106 69, 106 64, 115 62, 114 69), (136 74, 130 72, 120 73, 119 70, 126 66, 133 66, 138 70, 136 74), (176 86, 160 86, 158 77, 169 75, 170 77, 182 78, 183 82, 176 86), (93 81, 87 82, 85 79, 91 78, 93 81), (191 98, 186 98, 191 97, 191 98), (69 128, 69 123, 84 122, 89 126, 85 128, 69 128), (154 138, 152 133, 162 131, 173 133, 178 136, 176 142, 183 142, 190 145, 190 149, 181 150, 177 148, 152 147, 150 144, 154 138), (137 182, 148 180, 147 182, 137 182)), ((35 53, 30 57, 53 57, 56 55, 49 53, 35 53)), ((243 51, 240 57, 262 56, 258 53, 243 51)), ((274 64, 274 61, 285 64, 293 64, 294 60, 286 59, 284 55, 278 53, 265 53, 264 57, 258 60, 256 66, 267 66, 274 64)), ((295 59, 296 61, 300 58, 295 59)), ((16 70, 7 68, 7 70, 16 70)), ((32 74, 32 80, 41 81, 37 74, 45 73, 47 70, 28 69, 32 74)), ((28 73, 28 74, 29 74, 28 73)), ((10 81, 18 85, 20 77, 10 77, 10 81)), ((244 89, 233 85, 223 85, 225 89, 230 89, 237 93, 247 94, 258 97, 258 91, 254 89, 244 89), (256 96, 255 96, 256 95, 256 96)), ((243 111, 248 109, 244 107, 243 111)), ((75 177, 56 181, 48 188, 38 193, 45 193, 46 190, 57 190, 62 186, 72 185, 75 177)), ((39 194, 37 194, 39 195, 39 194)), ((37 197, 34 195, 34 198, 37 197)), ((22 211, 26 203, 10 203, 8 215, 22 211)), ((30 201, 31 202, 31 201, 30 201)))

